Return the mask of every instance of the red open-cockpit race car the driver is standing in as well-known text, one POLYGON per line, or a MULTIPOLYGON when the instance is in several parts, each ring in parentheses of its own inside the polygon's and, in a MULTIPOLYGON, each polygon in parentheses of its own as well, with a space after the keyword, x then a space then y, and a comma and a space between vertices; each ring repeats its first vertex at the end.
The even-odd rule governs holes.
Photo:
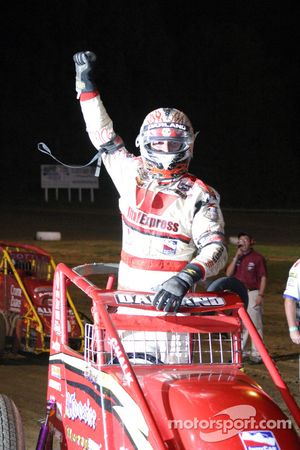
POLYGON ((177 314, 164 314, 152 306, 153 293, 113 290, 116 273, 113 264, 56 268, 47 415, 37 450, 300 448, 292 421, 243 370, 242 324, 300 426, 298 405, 247 314, 238 280, 216 280, 207 292, 188 294, 177 314), (90 275, 105 271, 101 289, 90 275), (67 332, 70 283, 91 302, 83 352, 70 347, 67 332), (167 345, 162 357, 160 342, 169 337, 186 345, 167 345))

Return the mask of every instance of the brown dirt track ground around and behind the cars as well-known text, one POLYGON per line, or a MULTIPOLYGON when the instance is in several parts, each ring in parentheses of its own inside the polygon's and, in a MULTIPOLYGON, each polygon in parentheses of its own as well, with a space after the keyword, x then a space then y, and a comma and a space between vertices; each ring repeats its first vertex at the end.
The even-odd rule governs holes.
MULTIPOLYGON (((240 230, 251 230, 259 242, 295 244, 299 246, 300 214, 247 214, 225 212, 227 236, 236 235, 240 230), (288 232, 286 224, 289 224, 288 232), (271 230, 271 232, 270 232, 271 230)), ((96 207, 83 210, 78 205, 72 208, 53 207, 2 210, 0 213, 0 240, 33 243, 43 247, 43 242, 34 242, 37 231, 61 231, 65 241, 63 253, 55 256, 62 262, 77 265, 84 262, 93 252, 94 240, 101 239, 103 246, 108 240, 107 257, 118 260, 120 242, 119 214, 100 211, 96 207), (115 247, 114 247, 115 246, 115 247), (113 250, 113 252, 112 252, 113 250)), ((45 248, 51 245, 45 243, 45 248)), ((55 244, 53 246, 56 252, 55 244)), ((96 251, 96 250, 95 250, 96 251)), ((58 261, 57 261, 58 262, 58 261)), ((283 305, 278 301, 282 286, 278 287, 277 298, 266 296, 264 329, 265 344, 275 361, 279 372, 291 393, 300 405, 299 393, 299 347, 293 345, 286 331, 283 305)), ((290 417, 281 395, 274 388, 270 376, 263 365, 245 365, 245 370, 273 397, 290 417)), ((18 406, 24 422, 27 450, 34 450, 39 433, 39 419, 45 416, 47 382, 47 357, 29 358, 25 361, 0 359, 0 392, 10 396, 18 406)))

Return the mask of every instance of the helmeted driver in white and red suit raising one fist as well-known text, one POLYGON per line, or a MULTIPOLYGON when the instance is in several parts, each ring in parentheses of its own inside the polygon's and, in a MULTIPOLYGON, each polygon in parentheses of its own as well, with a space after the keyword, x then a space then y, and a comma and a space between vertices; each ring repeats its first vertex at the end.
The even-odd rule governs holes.
POLYGON ((134 156, 115 133, 93 80, 96 55, 83 51, 73 59, 87 132, 120 195, 118 288, 155 291, 156 308, 176 312, 195 283, 227 262, 219 195, 188 173, 192 124, 175 108, 150 112, 136 139, 140 156, 134 156))

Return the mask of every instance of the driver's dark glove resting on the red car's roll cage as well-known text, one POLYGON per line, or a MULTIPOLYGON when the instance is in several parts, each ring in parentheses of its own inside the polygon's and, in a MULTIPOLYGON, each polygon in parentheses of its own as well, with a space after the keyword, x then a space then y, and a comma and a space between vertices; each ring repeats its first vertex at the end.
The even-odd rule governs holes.
POLYGON ((183 297, 188 290, 203 278, 201 269, 196 264, 188 264, 181 272, 165 281, 153 299, 153 305, 166 312, 173 308, 178 311, 183 297))

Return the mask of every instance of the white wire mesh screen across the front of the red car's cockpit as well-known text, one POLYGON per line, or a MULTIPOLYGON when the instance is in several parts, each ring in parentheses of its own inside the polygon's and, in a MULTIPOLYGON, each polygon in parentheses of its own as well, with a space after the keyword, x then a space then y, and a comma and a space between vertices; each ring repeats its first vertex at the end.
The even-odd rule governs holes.
MULTIPOLYGON (((120 331, 131 364, 233 364, 238 362, 240 338, 233 333, 166 333, 120 331)), ((84 358, 94 364, 118 364, 105 331, 85 325, 84 358)))

